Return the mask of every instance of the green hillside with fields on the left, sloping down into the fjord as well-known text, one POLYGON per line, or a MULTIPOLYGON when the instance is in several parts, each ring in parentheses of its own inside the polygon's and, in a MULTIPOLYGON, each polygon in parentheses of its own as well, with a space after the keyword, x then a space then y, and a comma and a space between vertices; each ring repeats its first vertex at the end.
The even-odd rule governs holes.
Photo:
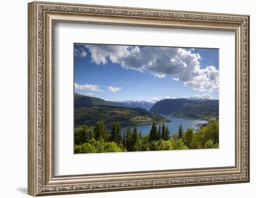
POLYGON ((74 94, 74 124, 88 127, 95 126, 99 120, 104 121, 106 127, 110 127, 112 121, 119 121, 121 126, 134 126, 170 122, 162 115, 150 113, 140 107, 128 107, 118 102, 105 101, 101 98, 74 94))

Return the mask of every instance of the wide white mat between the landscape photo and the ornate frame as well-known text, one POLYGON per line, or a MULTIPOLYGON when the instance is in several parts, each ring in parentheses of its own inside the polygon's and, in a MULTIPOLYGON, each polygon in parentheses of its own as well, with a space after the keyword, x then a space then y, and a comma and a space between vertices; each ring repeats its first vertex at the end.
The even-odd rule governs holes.
POLYGON ((55 175, 235 166, 235 32, 70 23, 58 23, 54 30, 55 175), (73 48, 78 42, 220 48, 220 148, 74 155, 73 48))

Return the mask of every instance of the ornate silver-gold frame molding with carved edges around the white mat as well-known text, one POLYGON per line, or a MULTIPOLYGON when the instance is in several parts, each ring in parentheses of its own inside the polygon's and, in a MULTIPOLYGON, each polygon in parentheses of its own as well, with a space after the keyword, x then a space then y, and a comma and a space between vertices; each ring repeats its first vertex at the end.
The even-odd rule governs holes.
POLYGON ((29 195, 242 182, 249 182, 249 15, 37 1, 28 4, 29 195), (235 32, 235 166, 54 176, 55 22, 235 32))

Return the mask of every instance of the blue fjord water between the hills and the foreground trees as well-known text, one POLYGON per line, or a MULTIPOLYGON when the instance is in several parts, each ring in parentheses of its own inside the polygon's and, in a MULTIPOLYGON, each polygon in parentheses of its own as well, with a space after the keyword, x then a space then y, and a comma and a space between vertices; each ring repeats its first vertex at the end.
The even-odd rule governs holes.
MULTIPOLYGON (((186 130, 187 128, 195 128, 196 129, 197 124, 207 122, 205 120, 177 118, 177 117, 173 117, 171 115, 162 115, 162 116, 171 120, 171 122, 165 123, 165 125, 167 125, 170 130, 170 135, 174 134, 175 132, 178 131, 180 124, 182 124, 183 130, 186 130)), ((150 132, 151 124, 150 125, 139 125, 136 127, 138 129, 138 132, 141 131, 142 135, 146 135, 146 134, 149 134, 149 132, 150 132)), ((158 127, 158 125, 157 125, 157 127, 158 127)), ((133 130, 133 128, 134 128, 134 126, 131 126, 131 130, 133 130)), ((122 128, 121 130, 124 131, 124 130, 126 130, 126 128, 122 128)))

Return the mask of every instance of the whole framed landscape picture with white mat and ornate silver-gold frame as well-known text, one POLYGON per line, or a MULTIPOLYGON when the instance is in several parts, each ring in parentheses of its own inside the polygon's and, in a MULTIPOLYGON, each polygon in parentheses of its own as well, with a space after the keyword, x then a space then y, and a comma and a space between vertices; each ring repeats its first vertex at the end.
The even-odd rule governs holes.
POLYGON ((28 4, 28 194, 249 182, 249 16, 28 4))

